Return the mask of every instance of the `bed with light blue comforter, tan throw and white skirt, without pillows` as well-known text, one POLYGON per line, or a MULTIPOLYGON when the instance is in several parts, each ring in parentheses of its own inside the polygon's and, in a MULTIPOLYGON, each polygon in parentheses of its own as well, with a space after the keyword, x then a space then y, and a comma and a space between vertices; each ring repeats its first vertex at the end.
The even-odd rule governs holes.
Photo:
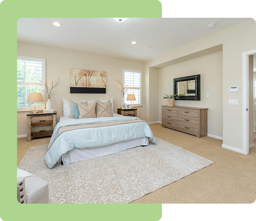
POLYGON ((129 148, 146 146, 148 138, 156 143, 145 121, 113 113, 113 117, 72 119, 61 116, 45 155, 49 168, 56 162, 76 161, 104 156, 129 148))

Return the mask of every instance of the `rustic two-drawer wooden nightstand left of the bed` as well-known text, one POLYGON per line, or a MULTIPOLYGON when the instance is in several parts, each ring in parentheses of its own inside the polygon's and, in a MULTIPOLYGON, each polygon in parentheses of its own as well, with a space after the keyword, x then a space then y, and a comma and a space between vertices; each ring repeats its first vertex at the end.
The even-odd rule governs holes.
POLYGON ((28 113, 28 142, 31 138, 40 138, 53 135, 56 126, 56 114, 54 113, 28 113))

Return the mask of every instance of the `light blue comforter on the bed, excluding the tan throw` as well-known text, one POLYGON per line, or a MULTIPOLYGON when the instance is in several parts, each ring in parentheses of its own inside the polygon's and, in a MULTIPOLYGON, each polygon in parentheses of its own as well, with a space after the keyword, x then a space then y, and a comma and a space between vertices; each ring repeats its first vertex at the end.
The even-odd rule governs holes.
MULTIPOLYGON (((53 132, 49 146, 56 138, 59 128, 80 124, 98 124, 112 121, 130 121, 138 117, 98 117, 86 119, 69 119, 59 122, 53 132)), ((146 122, 113 125, 109 127, 93 127, 70 130, 61 133, 45 155, 45 161, 52 168, 61 155, 74 148, 102 147, 117 142, 149 137, 156 144, 154 134, 146 122)))

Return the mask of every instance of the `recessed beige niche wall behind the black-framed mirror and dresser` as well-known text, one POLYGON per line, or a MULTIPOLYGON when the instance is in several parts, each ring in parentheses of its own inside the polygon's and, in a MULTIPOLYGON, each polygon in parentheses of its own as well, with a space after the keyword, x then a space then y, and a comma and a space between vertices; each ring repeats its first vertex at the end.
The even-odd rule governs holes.
POLYGON ((173 94, 173 79, 196 74, 200 74, 201 100, 175 100, 175 105, 209 108, 208 133, 222 137, 222 51, 159 69, 158 121, 161 105, 166 105, 162 96, 173 94))

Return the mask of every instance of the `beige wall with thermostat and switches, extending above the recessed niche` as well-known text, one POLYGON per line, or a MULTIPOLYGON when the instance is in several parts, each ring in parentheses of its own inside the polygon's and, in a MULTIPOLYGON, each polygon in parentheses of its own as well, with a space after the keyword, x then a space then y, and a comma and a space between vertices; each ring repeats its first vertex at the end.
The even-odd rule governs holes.
MULTIPOLYGON (((242 149, 242 53, 256 49, 256 19, 218 32, 192 42, 169 53, 145 62, 144 78, 149 76, 149 68, 164 62, 178 59, 216 45, 223 45, 223 144, 242 149), (239 87, 231 93, 231 86, 239 87), (229 99, 238 99, 238 105, 229 105, 229 99)), ((144 96, 148 96, 144 93, 144 96)), ((144 108, 149 108, 148 97, 144 97, 144 108)), ((147 120, 147 119, 146 119, 147 120)))

